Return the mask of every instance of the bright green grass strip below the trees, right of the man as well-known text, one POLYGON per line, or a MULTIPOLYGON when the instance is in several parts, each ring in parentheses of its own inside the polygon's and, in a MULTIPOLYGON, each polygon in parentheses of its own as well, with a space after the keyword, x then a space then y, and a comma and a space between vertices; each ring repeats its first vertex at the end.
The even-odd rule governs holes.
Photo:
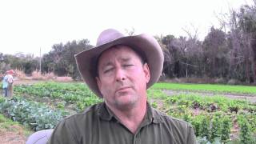
POLYGON ((151 89, 209 91, 215 94, 256 94, 256 86, 230 86, 218 84, 156 83, 151 89))

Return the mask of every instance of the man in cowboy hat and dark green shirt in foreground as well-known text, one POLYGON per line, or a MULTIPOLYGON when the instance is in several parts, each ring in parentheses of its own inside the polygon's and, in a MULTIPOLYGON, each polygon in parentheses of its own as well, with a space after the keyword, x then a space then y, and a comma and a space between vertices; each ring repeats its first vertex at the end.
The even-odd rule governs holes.
POLYGON ((162 49, 153 37, 104 30, 96 47, 75 58, 87 86, 104 102, 65 118, 49 143, 195 143, 190 124, 146 102, 146 89, 158 81, 163 65, 162 49))

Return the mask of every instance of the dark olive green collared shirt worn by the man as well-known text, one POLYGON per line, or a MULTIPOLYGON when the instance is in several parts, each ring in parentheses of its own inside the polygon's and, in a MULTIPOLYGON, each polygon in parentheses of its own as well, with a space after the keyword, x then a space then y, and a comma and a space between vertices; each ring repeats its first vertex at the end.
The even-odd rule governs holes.
POLYGON ((154 110, 147 104, 146 116, 135 134, 100 103, 83 114, 64 118, 51 135, 50 144, 186 144, 196 143, 192 126, 154 110))

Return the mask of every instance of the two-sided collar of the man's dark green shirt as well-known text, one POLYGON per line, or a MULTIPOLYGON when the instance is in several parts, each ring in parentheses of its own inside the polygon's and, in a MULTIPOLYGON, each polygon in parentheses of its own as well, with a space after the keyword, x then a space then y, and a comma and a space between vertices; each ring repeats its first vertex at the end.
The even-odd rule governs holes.
MULTIPOLYGON (((99 107, 98 107, 98 116, 103 120, 110 121, 112 118, 114 118, 114 113, 110 110, 110 108, 106 106, 105 102, 102 102, 101 104, 99 104, 99 107)), ((152 106, 150 106, 149 102, 146 102, 146 116, 142 121, 142 123, 147 124, 151 122, 160 123, 162 122, 162 120, 158 112, 154 110, 152 106)))

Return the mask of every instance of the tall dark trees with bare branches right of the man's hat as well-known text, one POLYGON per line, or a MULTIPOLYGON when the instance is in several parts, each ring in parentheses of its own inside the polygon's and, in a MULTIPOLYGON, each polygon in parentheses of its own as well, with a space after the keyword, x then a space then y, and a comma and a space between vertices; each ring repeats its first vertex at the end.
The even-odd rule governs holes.
POLYGON ((158 38, 165 55, 168 77, 209 77, 256 82, 256 2, 231 10, 221 28, 210 28, 201 42, 196 35, 158 38), (229 31, 226 32, 226 27, 229 31))

